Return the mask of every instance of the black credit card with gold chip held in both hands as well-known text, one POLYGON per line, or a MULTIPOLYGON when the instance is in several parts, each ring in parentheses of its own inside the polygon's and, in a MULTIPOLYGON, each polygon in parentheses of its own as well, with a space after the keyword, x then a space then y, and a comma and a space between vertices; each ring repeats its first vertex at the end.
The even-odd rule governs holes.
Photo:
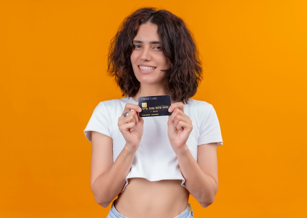
POLYGON ((139 106, 142 109, 140 117, 171 115, 168 112, 171 106, 170 95, 139 97, 139 106))

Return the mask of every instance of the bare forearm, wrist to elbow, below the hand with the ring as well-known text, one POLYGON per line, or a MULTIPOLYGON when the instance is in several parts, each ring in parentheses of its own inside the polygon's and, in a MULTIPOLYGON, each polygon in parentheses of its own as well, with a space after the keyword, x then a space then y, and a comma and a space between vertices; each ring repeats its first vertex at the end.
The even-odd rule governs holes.
POLYGON ((122 191, 126 176, 130 171, 135 151, 125 146, 112 166, 99 175, 92 184, 92 191, 96 201, 103 207, 122 191))

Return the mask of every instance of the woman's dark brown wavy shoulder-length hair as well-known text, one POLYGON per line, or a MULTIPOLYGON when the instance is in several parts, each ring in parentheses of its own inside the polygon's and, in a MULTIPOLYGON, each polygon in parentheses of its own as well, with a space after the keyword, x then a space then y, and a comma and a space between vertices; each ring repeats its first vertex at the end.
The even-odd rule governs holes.
POLYGON ((202 79, 202 66, 193 37, 185 23, 166 10, 141 8, 128 16, 112 39, 108 54, 108 72, 123 91, 134 97, 140 87, 133 73, 130 55, 138 27, 156 24, 162 52, 170 62, 165 70, 165 86, 175 102, 187 103, 195 95, 202 79))

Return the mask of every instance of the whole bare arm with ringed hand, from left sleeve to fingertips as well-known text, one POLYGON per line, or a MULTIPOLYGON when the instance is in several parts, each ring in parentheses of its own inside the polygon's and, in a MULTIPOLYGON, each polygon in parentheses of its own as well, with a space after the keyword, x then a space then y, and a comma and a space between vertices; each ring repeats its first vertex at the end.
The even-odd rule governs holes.
POLYGON ((127 117, 121 116, 118 120, 126 145, 114 163, 113 140, 92 132, 91 188, 96 201, 103 207, 107 207, 123 189, 143 134, 143 119, 135 111, 139 111, 138 106, 127 104, 124 112, 130 109, 133 110, 127 117))

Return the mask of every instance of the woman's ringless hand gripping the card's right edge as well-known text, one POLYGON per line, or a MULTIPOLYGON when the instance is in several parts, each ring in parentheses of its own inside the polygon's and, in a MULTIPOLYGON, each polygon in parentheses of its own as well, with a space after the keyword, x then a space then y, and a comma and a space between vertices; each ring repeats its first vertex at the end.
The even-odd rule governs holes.
POLYGON ((183 111, 183 103, 172 104, 168 109, 172 112, 169 116, 168 126, 168 138, 175 151, 175 153, 186 145, 186 141, 193 129, 192 121, 183 111))

